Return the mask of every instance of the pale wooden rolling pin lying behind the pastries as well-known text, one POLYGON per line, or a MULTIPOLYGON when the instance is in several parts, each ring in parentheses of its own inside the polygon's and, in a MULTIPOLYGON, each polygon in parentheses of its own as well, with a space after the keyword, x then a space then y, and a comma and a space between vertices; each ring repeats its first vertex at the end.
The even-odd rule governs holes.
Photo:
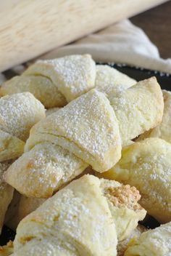
POLYGON ((0 71, 166 0, 1 0, 0 71))

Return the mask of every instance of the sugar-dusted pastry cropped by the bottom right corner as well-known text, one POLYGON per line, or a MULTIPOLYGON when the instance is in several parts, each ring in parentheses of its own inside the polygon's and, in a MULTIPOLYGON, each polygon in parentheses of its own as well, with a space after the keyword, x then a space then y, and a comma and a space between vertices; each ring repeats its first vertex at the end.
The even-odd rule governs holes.
POLYGON ((171 223, 146 231, 130 241, 124 256, 170 256, 171 223))

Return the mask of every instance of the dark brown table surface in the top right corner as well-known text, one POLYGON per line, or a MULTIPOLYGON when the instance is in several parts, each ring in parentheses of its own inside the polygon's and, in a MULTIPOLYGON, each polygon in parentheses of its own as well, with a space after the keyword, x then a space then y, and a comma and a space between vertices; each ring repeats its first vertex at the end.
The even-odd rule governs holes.
POLYGON ((161 57, 171 57, 171 1, 130 19, 159 48, 161 57))

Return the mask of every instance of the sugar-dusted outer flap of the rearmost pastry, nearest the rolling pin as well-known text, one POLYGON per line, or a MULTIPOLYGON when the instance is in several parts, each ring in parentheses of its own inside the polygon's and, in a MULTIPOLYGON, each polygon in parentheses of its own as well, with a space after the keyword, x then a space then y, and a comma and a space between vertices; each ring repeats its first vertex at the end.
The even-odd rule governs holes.
POLYGON ((54 60, 38 60, 24 74, 33 73, 49 77, 70 102, 94 87, 96 65, 91 55, 69 55, 54 60))

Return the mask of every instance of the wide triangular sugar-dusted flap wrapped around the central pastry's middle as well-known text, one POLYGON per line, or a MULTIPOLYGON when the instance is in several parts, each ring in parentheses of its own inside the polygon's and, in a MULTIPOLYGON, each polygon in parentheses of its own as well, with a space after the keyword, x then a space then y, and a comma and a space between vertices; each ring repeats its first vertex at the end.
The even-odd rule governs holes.
POLYGON ((120 159, 117 119, 107 97, 95 89, 33 127, 25 151, 45 140, 66 148, 99 172, 120 159))

